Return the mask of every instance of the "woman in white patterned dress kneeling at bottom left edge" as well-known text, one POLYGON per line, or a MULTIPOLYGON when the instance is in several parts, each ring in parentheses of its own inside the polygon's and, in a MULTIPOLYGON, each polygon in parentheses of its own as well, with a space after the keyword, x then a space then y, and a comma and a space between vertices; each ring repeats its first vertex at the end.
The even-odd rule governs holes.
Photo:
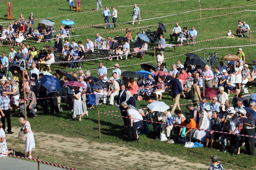
MULTIPOLYGON (((0 116, 1 117, 1 116, 0 116)), ((3 154, 13 154, 15 155, 15 150, 7 149, 7 143, 5 140, 5 131, 2 128, 3 124, 0 122, 0 157, 7 157, 7 155, 3 154)))

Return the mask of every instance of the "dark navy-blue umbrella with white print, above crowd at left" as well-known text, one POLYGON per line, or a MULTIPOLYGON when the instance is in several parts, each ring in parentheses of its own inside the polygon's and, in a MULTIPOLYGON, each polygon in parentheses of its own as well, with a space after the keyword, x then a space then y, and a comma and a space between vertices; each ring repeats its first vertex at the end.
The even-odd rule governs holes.
POLYGON ((55 92, 60 88, 59 80, 52 75, 43 75, 40 81, 49 92, 55 92))

